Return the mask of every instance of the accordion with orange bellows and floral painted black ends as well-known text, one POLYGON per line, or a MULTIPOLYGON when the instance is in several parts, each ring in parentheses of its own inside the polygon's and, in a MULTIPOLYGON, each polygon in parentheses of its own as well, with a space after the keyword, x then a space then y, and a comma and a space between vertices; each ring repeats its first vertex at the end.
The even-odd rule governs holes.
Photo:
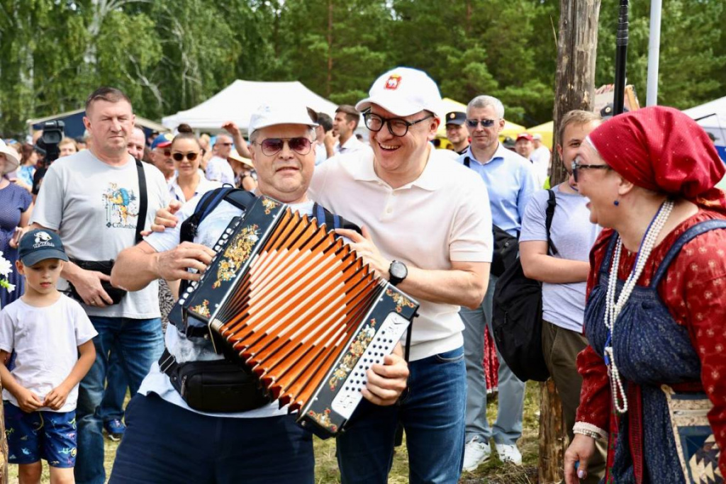
POLYGON ((418 303, 324 224, 272 198, 233 218, 214 250, 169 318, 206 325, 215 350, 240 356, 298 423, 337 434, 418 303))

